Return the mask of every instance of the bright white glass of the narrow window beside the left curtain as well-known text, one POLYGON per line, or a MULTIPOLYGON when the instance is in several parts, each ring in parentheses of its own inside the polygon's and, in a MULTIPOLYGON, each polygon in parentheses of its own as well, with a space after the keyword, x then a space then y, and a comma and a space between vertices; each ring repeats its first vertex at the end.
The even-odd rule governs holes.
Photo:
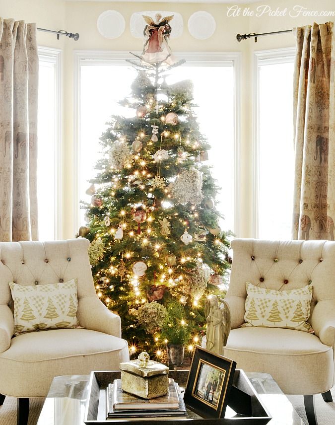
POLYGON ((39 240, 56 238, 56 61, 39 60, 37 199, 39 240))

